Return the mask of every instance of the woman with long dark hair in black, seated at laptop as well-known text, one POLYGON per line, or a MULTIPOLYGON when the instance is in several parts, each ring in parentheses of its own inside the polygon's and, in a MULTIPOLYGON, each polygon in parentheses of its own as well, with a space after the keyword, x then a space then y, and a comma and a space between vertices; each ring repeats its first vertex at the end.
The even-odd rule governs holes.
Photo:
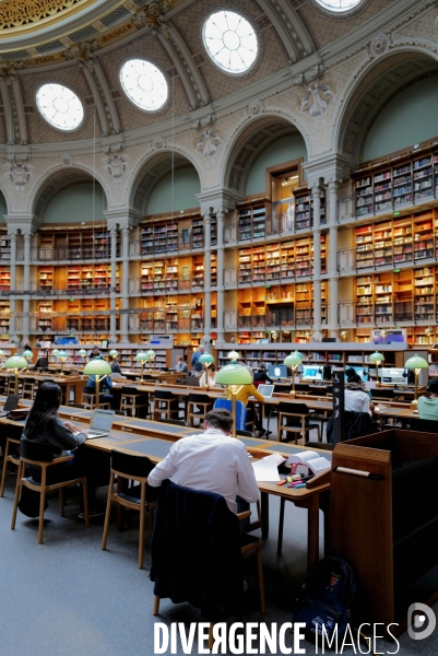
MULTIPOLYGON (((87 431, 59 419, 58 410, 61 398, 61 388, 56 383, 43 383, 38 387, 34 405, 24 425, 23 440, 49 445, 54 458, 72 455, 72 461, 50 468, 48 483, 60 482, 75 476, 86 476, 90 516, 97 517, 105 514, 105 506, 102 508, 97 506, 96 488, 98 484, 107 484, 109 461, 107 458, 104 461, 104 458, 95 449, 86 449, 85 453, 83 444, 87 437, 87 431)), ((36 481, 40 481, 40 469, 35 469, 32 476, 36 481)), ((39 500, 39 494, 36 496, 39 500)), ((84 518, 83 508, 79 516, 84 518)))

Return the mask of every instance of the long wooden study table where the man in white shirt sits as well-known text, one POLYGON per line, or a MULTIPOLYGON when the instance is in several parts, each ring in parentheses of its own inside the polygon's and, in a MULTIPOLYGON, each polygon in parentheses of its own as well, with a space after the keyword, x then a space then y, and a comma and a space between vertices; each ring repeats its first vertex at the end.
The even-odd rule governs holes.
MULTIPOLYGON (((0 398, 0 402, 4 401, 0 398)), ((24 406, 31 406, 31 402, 23 401, 24 406)), ((81 424, 86 429, 93 414, 91 410, 81 408, 69 408, 62 406, 59 415, 62 419, 74 421, 79 426, 81 424)), ((23 425, 24 421, 0 418, 3 425, 23 425)), ((110 453, 113 448, 126 450, 130 454, 147 456, 154 462, 159 462, 168 454, 170 446, 177 440, 193 435, 200 432, 198 429, 189 426, 178 426, 163 422, 149 421, 117 415, 114 427, 107 437, 90 440, 85 443, 86 447, 95 448, 105 453, 110 453)), ((262 458, 270 453, 280 453, 288 457, 293 453, 303 450, 303 446, 292 444, 279 444, 269 440, 258 440, 256 437, 238 437, 247 447, 248 453, 254 459, 262 458)), ((318 449, 316 449, 318 450, 318 449)), ((331 453, 320 452, 328 459, 331 459, 331 453)), ((317 481, 313 481, 317 483, 317 481)), ((262 536, 268 537, 269 532, 269 495, 282 496, 293 502, 297 507, 308 511, 308 543, 307 543, 307 564, 310 569, 319 560, 319 509, 327 502, 329 482, 324 480, 321 484, 313 484, 312 488, 301 488, 294 490, 285 485, 277 485, 276 482, 259 482, 262 505, 262 536)))

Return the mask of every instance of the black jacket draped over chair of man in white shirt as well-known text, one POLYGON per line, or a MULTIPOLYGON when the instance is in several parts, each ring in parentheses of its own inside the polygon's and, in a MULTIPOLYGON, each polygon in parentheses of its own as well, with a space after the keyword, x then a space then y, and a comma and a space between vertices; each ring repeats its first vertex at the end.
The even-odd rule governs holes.
POLYGON ((206 621, 241 614, 239 520, 221 494, 164 481, 151 557, 157 597, 189 601, 206 621))

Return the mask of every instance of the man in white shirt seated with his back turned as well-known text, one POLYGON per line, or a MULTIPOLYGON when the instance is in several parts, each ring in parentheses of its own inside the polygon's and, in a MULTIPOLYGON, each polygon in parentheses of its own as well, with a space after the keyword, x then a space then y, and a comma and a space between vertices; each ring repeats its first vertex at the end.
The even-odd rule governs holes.
POLYGON ((147 483, 157 488, 178 475, 185 488, 216 492, 225 497, 233 513, 236 497, 249 503, 259 499, 259 488, 245 444, 230 437, 233 417, 217 409, 205 415, 205 431, 178 440, 162 462, 151 471, 147 483))

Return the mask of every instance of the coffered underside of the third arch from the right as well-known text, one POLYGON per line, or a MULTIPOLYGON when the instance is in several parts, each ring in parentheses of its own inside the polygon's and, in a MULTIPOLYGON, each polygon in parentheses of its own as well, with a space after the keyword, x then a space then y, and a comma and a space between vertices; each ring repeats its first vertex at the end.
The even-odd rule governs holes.
POLYGON ((175 151, 175 149, 163 149, 158 152, 149 154, 139 166, 132 177, 132 184, 129 189, 129 207, 140 214, 144 213, 147 200, 164 176, 171 169, 178 171, 191 166, 198 174, 202 188, 202 176, 194 161, 186 153, 175 151))

